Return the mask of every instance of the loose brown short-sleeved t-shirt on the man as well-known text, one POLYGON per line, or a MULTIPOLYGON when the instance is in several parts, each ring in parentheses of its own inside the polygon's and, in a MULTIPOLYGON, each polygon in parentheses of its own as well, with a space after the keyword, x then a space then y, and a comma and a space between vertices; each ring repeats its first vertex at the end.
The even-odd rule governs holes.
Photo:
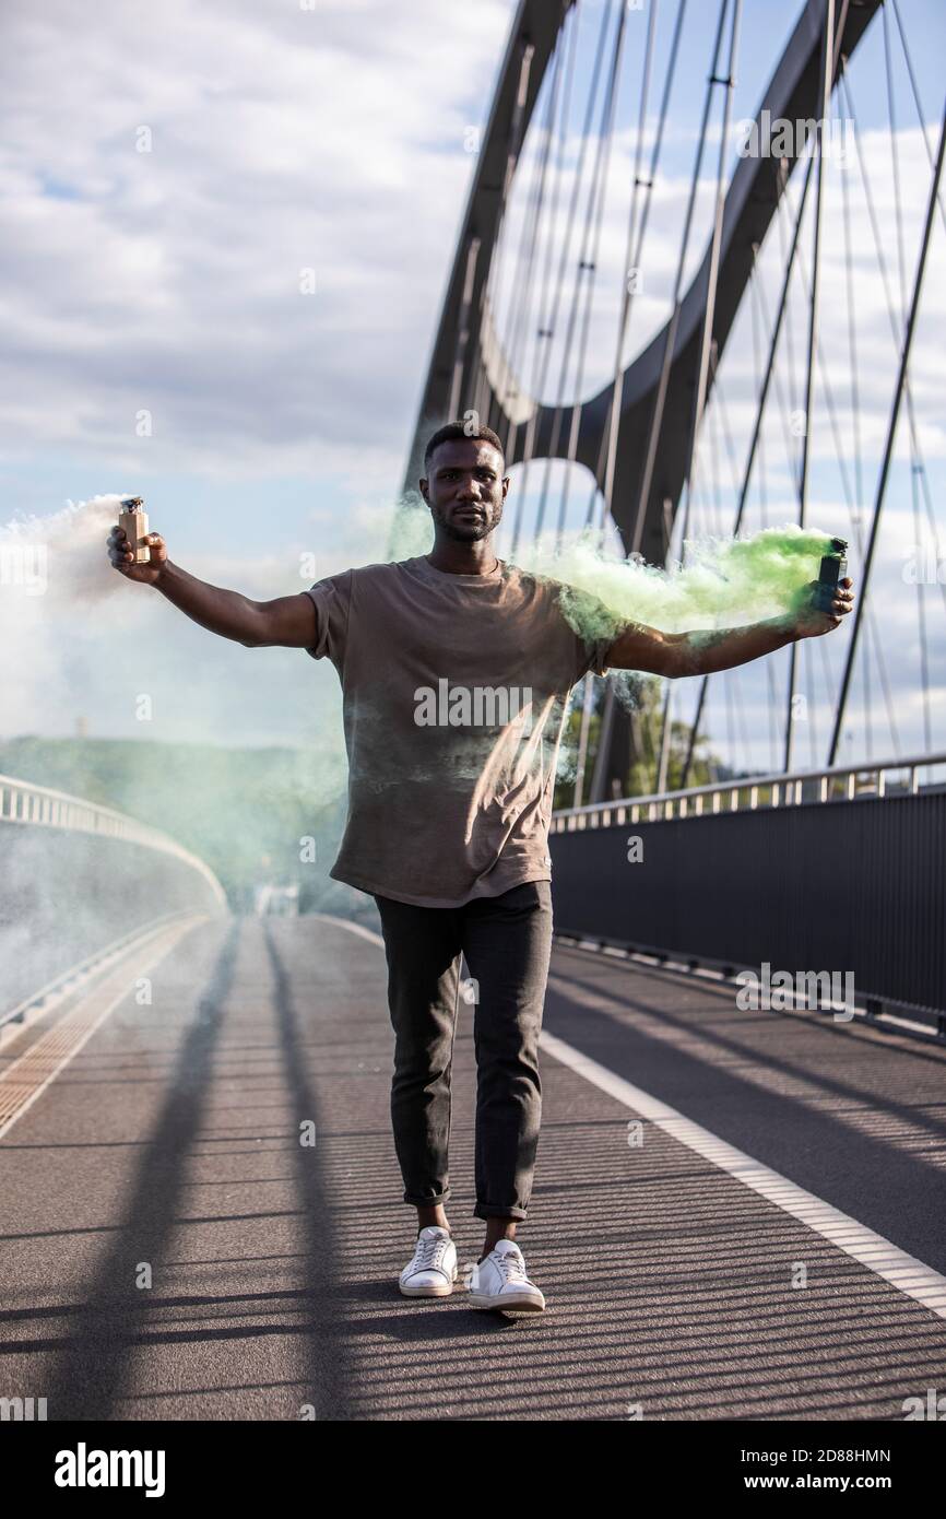
POLYGON ((319 580, 316 643, 342 681, 348 823, 330 875, 418 907, 550 881, 548 822, 568 693, 603 674, 562 588, 500 561, 425 557, 319 580))

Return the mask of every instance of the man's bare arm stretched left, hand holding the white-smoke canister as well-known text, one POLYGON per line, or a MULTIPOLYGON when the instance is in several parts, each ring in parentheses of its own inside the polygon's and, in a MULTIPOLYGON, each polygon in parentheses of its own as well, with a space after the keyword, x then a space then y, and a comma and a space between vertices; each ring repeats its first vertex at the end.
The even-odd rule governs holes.
POLYGON ((153 585, 208 632, 232 638, 246 649, 311 649, 316 643, 316 609, 305 591, 278 595, 273 602, 252 602, 240 591, 208 585, 172 564, 159 533, 149 533, 144 542, 150 548, 150 564, 137 565, 125 533, 114 527, 108 538, 108 554, 115 570, 128 580, 153 585))

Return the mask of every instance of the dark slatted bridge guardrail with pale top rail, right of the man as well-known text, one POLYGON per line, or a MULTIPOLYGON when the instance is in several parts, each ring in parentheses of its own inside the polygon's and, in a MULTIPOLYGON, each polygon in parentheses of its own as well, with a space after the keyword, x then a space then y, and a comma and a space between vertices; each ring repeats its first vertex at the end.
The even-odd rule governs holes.
POLYGON ((943 766, 746 776, 560 813, 557 931, 694 965, 850 972, 867 1012, 941 1027, 943 766))

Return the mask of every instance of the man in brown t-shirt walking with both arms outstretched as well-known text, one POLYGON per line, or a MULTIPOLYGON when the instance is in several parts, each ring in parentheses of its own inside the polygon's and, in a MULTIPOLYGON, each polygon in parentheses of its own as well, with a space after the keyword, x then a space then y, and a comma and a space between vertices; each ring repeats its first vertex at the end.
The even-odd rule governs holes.
POLYGON ((331 875, 374 896, 395 1028, 392 1126, 404 1202, 418 1209, 410 1297, 442 1297, 457 1277, 445 1203, 451 1059, 460 995, 475 1003, 474 1215, 486 1223, 469 1303, 545 1306, 515 1243, 539 1139, 539 1031, 551 951, 548 823, 572 685, 588 670, 709 674, 838 627, 806 611, 750 627, 661 633, 612 620, 588 643, 560 588, 500 561, 492 535, 509 477, 498 436, 451 422, 427 445, 419 482, 434 523, 428 554, 364 565, 310 591, 251 602, 172 564, 152 533, 134 565, 114 529, 111 562, 155 585, 202 627, 249 649, 328 656, 342 681, 349 760, 345 837, 331 875), (472 972, 460 984, 462 957, 472 972))

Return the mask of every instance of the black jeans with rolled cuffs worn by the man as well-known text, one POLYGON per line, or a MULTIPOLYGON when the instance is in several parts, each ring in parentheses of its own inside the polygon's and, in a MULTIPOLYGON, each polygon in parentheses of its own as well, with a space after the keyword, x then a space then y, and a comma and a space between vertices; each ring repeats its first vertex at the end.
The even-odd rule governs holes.
POLYGON ((404 1202, 449 1197, 449 1083, 460 998, 474 1004, 474 1217, 525 1218, 539 1145, 539 1033, 551 954, 551 886, 525 881, 463 907, 375 896, 395 1028, 390 1116, 404 1202), (460 955, 469 980, 460 981, 460 955))

